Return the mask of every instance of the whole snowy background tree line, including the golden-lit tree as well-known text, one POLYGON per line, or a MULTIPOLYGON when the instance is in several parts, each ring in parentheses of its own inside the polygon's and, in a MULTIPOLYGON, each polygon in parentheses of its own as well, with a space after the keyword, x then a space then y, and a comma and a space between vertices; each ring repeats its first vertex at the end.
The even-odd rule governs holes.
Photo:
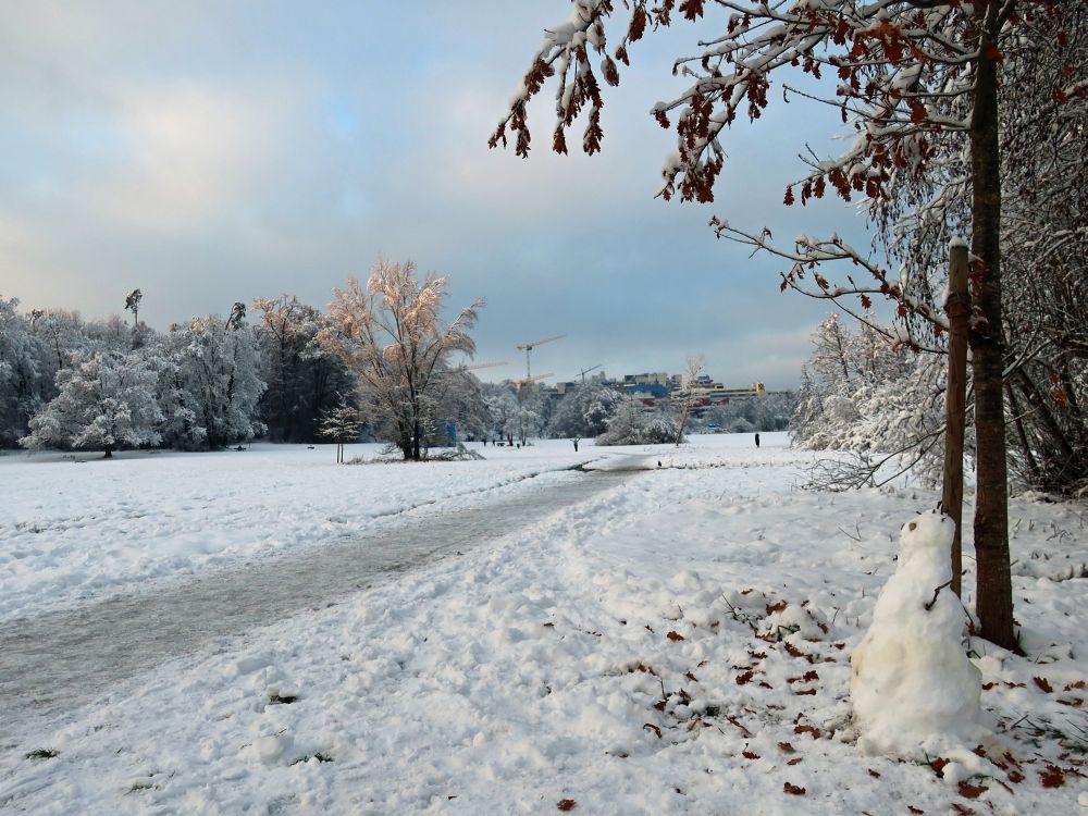
MULTIPOLYGON (((463 441, 536 437, 675 442, 679 400, 646 405, 583 383, 564 396, 482 383, 455 353, 474 350, 477 301, 441 318, 444 279, 380 260, 366 284, 334 290, 327 312, 292 295, 235 302, 158 332, 133 289, 120 316, 20 309, 0 297, 0 447, 207 450, 273 442, 388 442, 405 459, 463 441)), ((782 430, 788 395, 696 409, 688 430, 782 430)))

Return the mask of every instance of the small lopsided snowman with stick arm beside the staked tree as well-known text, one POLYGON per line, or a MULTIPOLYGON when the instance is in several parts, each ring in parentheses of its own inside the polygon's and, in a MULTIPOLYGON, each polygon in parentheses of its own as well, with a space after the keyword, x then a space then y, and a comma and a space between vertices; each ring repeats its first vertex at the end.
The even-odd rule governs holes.
POLYGON ((850 694, 864 753, 925 759, 988 735, 980 725, 980 673, 963 648, 967 617, 949 589, 954 531, 937 511, 902 529, 895 572, 851 656, 850 694))

